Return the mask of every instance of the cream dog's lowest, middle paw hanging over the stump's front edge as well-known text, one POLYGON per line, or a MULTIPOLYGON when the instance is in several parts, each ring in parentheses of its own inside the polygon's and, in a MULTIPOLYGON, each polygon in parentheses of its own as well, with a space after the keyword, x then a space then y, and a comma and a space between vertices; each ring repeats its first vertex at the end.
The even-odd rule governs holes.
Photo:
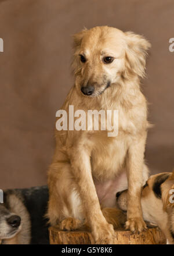
POLYGON ((95 244, 114 244, 115 232, 113 225, 102 223, 93 230, 95 244))

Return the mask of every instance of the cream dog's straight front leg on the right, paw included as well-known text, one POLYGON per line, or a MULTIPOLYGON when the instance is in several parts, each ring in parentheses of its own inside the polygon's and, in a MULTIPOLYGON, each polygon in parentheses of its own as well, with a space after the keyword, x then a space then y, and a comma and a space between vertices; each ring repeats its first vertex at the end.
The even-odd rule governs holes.
POLYGON ((128 175, 128 211, 126 229, 132 232, 142 232, 146 229, 146 223, 143 220, 140 196, 143 186, 143 164, 144 147, 146 135, 131 144, 126 159, 126 168, 128 175))

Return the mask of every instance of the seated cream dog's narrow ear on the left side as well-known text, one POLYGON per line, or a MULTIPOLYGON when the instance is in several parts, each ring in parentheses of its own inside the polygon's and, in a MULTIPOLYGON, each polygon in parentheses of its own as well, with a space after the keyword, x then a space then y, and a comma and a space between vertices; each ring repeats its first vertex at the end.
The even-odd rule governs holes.
POLYGON ((72 62, 72 69, 74 70, 74 72, 76 73, 78 70, 78 66, 79 66, 79 51, 81 48, 81 42, 82 39, 86 33, 87 29, 83 29, 82 31, 80 31, 77 34, 73 35, 73 62, 72 62))

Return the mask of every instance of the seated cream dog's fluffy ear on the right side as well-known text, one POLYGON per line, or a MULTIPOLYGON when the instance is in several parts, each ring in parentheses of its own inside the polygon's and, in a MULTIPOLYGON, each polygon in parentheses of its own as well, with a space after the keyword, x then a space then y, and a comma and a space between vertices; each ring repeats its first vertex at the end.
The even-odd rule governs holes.
POLYGON ((128 72, 128 75, 134 73, 143 77, 146 68, 147 51, 151 47, 150 42, 142 35, 132 32, 126 32, 125 35, 127 43, 125 72, 128 72))

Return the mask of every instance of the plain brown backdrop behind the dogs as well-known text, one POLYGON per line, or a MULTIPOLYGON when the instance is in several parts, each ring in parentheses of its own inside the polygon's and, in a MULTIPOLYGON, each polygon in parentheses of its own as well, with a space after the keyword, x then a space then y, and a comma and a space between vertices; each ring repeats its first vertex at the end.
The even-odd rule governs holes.
POLYGON ((152 44, 142 89, 149 105, 151 172, 174 168, 173 0, 0 1, 0 188, 46 183, 55 113, 73 85, 71 35, 100 25, 143 34, 152 44))

